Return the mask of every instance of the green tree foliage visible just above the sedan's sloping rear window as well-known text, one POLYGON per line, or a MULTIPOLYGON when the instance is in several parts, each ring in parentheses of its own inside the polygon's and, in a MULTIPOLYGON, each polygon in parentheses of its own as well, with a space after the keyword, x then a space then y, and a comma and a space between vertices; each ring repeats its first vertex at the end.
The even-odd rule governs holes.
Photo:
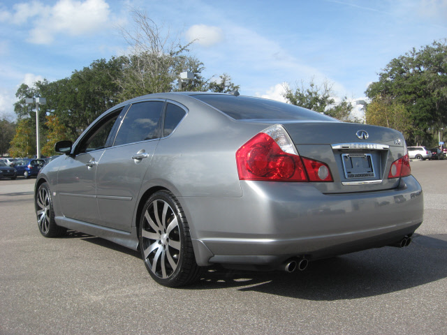
POLYGON ((295 90, 292 90, 288 85, 284 89, 283 96, 292 105, 324 113, 341 121, 356 121, 350 117, 353 105, 346 96, 342 98, 340 103, 336 103, 332 84, 328 80, 325 80, 321 85, 315 84, 313 79, 309 84, 301 81, 300 84, 295 84, 295 90))

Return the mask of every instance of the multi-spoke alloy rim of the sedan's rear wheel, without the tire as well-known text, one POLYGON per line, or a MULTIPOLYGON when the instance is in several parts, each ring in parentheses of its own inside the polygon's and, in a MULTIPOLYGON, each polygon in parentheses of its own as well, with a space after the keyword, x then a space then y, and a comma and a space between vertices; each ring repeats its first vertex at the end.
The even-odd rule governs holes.
POLYGON ((182 246, 175 212, 163 200, 154 200, 145 211, 142 222, 142 251, 147 267, 159 278, 173 275, 182 246))

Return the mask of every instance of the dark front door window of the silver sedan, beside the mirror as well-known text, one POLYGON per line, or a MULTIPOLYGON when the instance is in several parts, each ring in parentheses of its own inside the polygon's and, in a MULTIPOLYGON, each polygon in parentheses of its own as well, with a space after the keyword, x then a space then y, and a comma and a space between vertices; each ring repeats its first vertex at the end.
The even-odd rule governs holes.
POLYGON ((112 131, 113 125, 119 117, 119 113, 122 110, 117 110, 112 114, 108 115, 101 121, 99 121, 94 128, 91 129, 89 134, 82 139, 78 149, 76 150, 78 154, 83 152, 89 152, 94 150, 99 150, 105 148, 105 144, 108 140, 110 132, 112 131))

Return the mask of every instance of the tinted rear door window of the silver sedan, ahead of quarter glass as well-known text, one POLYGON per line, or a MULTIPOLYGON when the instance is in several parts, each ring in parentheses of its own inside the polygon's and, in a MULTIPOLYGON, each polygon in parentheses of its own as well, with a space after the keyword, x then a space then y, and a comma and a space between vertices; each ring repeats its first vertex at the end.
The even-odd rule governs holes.
POLYGON ((131 105, 119 128, 114 145, 159 138, 163 105, 163 101, 147 101, 131 105))

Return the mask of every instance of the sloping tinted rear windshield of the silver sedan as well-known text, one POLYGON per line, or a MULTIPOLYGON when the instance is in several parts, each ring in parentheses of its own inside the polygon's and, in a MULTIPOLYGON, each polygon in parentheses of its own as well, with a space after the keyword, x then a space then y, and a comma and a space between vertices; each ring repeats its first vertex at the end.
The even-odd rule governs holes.
POLYGON ((193 97, 237 120, 336 121, 312 110, 263 98, 214 94, 196 94, 193 97))

